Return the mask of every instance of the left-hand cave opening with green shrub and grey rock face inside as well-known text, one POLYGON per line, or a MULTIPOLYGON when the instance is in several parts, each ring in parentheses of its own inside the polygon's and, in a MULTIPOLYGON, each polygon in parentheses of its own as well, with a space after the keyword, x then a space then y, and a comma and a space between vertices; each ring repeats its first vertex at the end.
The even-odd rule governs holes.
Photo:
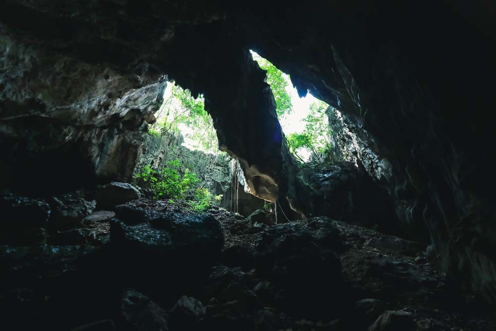
POLYGON ((170 81, 163 99, 136 166, 138 184, 157 199, 186 200, 195 211, 216 204, 248 216, 263 208, 264 200, 246 192, 239 162, 219 150, 203 95, 170 81))

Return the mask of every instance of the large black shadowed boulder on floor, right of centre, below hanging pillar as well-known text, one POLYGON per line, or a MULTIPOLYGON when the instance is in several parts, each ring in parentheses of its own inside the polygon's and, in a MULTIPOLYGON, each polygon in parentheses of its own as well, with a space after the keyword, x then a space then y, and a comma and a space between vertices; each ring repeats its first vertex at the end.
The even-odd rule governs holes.
POLYGON ((328 318, 338 308, 341 263, 332 250, 318 244, 307 223, 262 232, 255 246, 255 270, 274 284, 276 304, 288 312, 328 318))

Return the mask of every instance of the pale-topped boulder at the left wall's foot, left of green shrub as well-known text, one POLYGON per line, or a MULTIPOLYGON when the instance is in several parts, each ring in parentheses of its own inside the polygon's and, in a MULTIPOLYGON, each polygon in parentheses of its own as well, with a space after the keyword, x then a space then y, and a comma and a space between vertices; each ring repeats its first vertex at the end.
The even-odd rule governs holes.
POLYGON ((141 194, 134 186, 119 182, 104 185, 96 192, 96 201, 99 209, 112 209, 118 204, 139 199, 140 197, 141 194))

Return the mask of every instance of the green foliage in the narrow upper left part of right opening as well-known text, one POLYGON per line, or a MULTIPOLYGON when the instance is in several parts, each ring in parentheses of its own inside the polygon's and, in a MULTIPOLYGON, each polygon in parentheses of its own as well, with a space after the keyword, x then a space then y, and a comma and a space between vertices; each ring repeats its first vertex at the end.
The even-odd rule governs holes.
POLYGON ((277 116, 290 114, 293 105, 291 104, 291 97, 286 90, 288 87, 288 78, 284 76, 281 70, 258 54, 252 53, 251 55, 253 60, 258 63, 258 66, 267 72, 267 83, 270 85, 276 101, 277 116))

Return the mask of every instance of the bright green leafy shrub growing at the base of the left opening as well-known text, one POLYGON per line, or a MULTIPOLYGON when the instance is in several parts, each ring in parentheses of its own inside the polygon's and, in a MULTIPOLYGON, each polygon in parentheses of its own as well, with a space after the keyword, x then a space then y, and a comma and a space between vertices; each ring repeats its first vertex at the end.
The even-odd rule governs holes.
POLYGON ((222 195, 212 196, 208 189, 198 188, 199 179, 189 169, 186 168, 184 173, 180 169, 181 162, 178 159, 169 161, 162 171, 147 165, 135 175, 135 179, 142 180, 152 190, 154 199, 169 198, 170 203, 174 203, 174 199, 188 199, 188 204, 196 212, 202 212, 214 201, 222 200, 222 195))

